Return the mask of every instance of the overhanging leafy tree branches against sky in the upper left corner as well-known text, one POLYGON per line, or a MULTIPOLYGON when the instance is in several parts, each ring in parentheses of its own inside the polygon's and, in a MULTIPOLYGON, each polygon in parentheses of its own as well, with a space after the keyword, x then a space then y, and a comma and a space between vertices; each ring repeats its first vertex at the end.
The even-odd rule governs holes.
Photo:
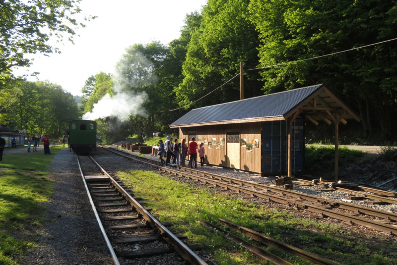
MULTIPOLYGON (((0 85, 13 79, 12 67, 28 67, 26 54, 59 53, 48 41, 64 37, 72 41, 78 23, 73 16, 81 10, 80 0, 0 1, 0 85)), ((85 18, 89 20, 94 17, 85 18)), ((0 86, 1 89, 1 86, 0 86)))

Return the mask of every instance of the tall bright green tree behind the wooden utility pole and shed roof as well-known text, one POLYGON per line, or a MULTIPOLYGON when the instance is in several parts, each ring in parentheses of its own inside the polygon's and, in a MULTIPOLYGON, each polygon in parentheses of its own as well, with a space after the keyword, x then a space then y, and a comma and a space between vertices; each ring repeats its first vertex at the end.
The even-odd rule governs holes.
MULTIPOLYGON (((184 80, 177 88, 180 105, 194 102, 239 73, 259 63, 260 44, 255 25, 249 20, 249 0, 209 0, 201 14, 199 27, 192 31, 184 80)), ((245 72, 245 97, 261 94, 258 72, 245 72)), ((207 106, 240 99, 238 78, 192 106, 207 106)), ((192 107, 191 106, 191 107, 192 107)))

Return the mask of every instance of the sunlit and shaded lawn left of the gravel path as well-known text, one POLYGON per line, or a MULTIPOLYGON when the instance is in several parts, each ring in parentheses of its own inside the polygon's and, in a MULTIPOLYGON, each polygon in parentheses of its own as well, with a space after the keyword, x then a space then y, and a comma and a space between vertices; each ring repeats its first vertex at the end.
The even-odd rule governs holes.
POLYGON ((46 177, 49 164, 62 146, 34 153, 3 153, 0 162, 0 264, 18 264, 18 256, 34 246, 29 239, 16 238, 18 231, 31 230, 43 221, 40 202, 49 200, 54 183, 46 177))

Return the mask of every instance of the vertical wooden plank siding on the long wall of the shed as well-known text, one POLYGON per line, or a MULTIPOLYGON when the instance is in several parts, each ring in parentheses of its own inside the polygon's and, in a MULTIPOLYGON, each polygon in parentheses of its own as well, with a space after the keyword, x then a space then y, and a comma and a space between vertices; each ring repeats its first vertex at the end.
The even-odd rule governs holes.
POLYGON ((240 168, 243 170, 261 172, 261 123, 251 122, 244 124, 222 124, 212 126, 197 126, 197 127, 184 127, 179 129, 179 138, 188 139, 189 133, 196 132, 197 142, 207 143, 204 144, 205 149, 205 163, 227 166, 227 150, 226 150, 226 133, 228 131, 240 131, 240 140, 245 139, 247 145, 242 146, 240 142, 240 168), (214 138, 214 141, 213 141, 214 138), (224 141, 221 142, 221 138, 224 141), (257 148, 250 149, 253 140, 257 140, 257 148), (217 144, 218 143, 218 144, 217 144), (249 151, 247 151, 247 146, 249 151))

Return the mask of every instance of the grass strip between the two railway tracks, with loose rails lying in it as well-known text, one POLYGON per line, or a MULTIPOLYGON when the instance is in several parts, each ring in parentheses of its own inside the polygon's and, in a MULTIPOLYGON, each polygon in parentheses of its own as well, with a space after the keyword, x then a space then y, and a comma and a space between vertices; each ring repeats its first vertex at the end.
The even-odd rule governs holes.
MULTIPOLYGON (((147 207, 160 214, 161 221, 172 222, 173 230, 185 233, 191 243, 204 246, 216 264, 268 263, 252 257, 223 235, 201 226, 199 219, 219 225, 217 218, 221 217, 340 264, 392 265, 397 262, 388 257, 397 251, 396 246, 381 241, 374 244, 373 239, 351 234, 336 225, 300 219, 269 205, 249 204, 240 199, 240 195, 231 198, 211 193, 212 187, 195 188, 192 183, 175 182, 151 171, 119 172, 119 175, 127 185, 133 186, 136 196, 145 198, 147 207)), ((265 249, 279 253, 272 247, 265 249)), ((309 264, 294 256, 286 259, 293 264, 309 264)))

